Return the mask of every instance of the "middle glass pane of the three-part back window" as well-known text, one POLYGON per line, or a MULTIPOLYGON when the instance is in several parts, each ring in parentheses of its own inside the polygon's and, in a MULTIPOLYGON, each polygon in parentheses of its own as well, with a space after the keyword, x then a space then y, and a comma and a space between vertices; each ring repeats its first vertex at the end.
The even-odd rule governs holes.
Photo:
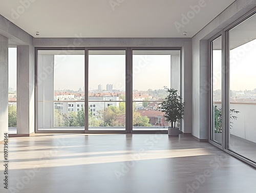
POLYGON ((89 131, 125 131, 125 51, 89 51, 89 131))

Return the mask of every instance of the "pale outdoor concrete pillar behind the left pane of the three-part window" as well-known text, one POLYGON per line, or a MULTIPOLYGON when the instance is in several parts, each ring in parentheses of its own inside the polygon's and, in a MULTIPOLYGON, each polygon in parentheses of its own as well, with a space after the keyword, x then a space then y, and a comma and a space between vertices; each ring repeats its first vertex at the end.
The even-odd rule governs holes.
POLYGON ((54 126, 54 55, 38 54, 38 128, 54 126))

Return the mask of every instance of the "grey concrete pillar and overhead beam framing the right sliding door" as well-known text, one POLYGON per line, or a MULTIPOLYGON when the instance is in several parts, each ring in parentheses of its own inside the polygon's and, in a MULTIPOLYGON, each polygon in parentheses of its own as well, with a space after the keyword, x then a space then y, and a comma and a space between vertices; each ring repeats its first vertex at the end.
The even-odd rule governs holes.
POLYGON ((208 138, 208 120, 205 116, 208 114, 207 91, 210 89, 207 77, 207 40, 255 6, 256 0, 237 0, 192 38, 192 134, 199 139, 208 138))

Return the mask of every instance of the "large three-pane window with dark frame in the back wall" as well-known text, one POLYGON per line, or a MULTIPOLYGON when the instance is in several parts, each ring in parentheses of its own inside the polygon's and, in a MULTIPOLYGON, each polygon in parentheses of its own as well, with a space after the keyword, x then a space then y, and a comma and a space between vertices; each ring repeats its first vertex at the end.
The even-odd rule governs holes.
POLYGON ((167 131, 159 104, 164 87, 180 92, 179 49, 37 52, 37 131, 167 131))

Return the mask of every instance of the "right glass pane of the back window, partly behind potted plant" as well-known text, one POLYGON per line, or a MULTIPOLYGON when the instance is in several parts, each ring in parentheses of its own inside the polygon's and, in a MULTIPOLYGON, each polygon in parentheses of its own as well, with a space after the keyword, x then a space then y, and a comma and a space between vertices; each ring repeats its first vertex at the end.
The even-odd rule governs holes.
POLYGON ((180 92, 179 50, 133 51, 133 131, 167 131, 168 123, 158 106, 164 89, 180 92))

